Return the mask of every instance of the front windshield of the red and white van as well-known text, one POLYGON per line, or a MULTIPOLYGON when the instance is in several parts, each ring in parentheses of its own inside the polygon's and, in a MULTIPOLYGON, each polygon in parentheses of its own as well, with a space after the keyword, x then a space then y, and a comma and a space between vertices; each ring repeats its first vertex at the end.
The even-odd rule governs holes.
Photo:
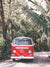
POLYGON ((31 39, 15 39, 16 45, 32 45, 31 39))

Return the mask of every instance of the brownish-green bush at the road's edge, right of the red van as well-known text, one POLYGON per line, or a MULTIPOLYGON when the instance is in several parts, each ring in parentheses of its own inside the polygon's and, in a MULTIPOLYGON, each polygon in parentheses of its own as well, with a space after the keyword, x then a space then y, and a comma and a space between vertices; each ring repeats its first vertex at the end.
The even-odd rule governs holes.
POLYGON ((44 39, 43 41, 37 39, 37 44, 34 46, 34 49, 36 52, 41 52, 41 51, 50 51, 50 47, 47 44, 47 40, 44 39))

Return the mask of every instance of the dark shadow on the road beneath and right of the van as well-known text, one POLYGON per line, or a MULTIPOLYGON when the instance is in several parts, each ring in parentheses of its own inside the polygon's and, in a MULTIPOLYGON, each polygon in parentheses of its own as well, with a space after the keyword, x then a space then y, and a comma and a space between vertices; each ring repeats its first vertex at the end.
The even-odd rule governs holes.
POLYGON ((33 60, 30 59, 21 59, 21 60, 15 60, 11 62, 22 62, 22 63, 50 63, 50 58, 46 57, 35 57, 33 60))

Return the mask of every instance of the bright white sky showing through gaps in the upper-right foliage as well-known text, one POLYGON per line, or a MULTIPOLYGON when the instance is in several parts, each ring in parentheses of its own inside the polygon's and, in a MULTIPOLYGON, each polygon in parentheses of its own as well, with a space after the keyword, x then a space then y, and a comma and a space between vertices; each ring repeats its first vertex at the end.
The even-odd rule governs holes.
MULTIPOLYGON (((35 0, 32 0, 32 1, 35 1, 35 0)), ((41 6, 47 11, 47 4, 46 4, 46 1, 45 0, 36 0, 38 4, 41 4, 41 6)), ((29 2, 28 0, 26 0, 29 8, 33 8, 33 9, 36 9, 36 6, 34 6, 31 2, 29 2)), ((34 10, 35 11, 35 10, 34 10)), ((40 11, 35 11, 37 14, 41 14, 40 11)))

